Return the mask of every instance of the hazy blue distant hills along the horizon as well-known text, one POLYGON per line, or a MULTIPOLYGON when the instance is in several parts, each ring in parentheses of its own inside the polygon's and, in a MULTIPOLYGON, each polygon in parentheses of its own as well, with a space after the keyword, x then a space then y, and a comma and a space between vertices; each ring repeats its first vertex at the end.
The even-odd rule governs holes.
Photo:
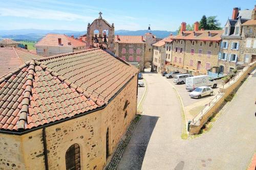
MULTIPOLYGON (((129 31, 129 30, 117 30, 115 34, 117 35, 144 35, 148 30, 138 30, 138 31, 129 31)), ((176 35, 177 32, 172 31, 151 31, 157 38, 164 38, 170 34, 176 35)), ((66 34, 68 36, 74 35, 74 37, 79 37, 83 34, 86 34, 86 31, 70 31, 70 30, 38 30, 38 29, 22 29, 22 30, 0 30, 0 39, 2 38, 11 38, 17 41, 29 40, 29 41, 38 41, 46 34, 55 33, 55 34, 66 34)))

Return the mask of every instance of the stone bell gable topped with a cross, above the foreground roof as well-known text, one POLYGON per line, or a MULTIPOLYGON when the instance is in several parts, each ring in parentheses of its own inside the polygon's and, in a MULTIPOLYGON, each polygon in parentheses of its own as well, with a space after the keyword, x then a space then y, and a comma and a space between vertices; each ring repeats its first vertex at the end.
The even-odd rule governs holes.
POLYGON ((114 52, 114 43, 115 43, 115 27, 114 23, 112 25, 109 24, 105 19, 102 19, 101 12, 99 12, 99 18, 95 19, 91 24, 88 23, 87 27, 87 48, 92 48, 94 44, 94 30, 99 31, 98 35, 98 43, 102 45, 104 43, 104 35, 103 31, 108 30, 108 39, 107 47, 110 51, 114 52))

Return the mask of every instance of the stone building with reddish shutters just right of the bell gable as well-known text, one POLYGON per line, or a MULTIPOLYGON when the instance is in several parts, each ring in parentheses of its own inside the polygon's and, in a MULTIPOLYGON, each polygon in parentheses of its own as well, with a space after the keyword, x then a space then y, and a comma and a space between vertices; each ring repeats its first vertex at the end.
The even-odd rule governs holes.
POLYGON ((116 35, 115 55, 143 71, 145 66, 152 65, 152 44, 157 40, 152 33, 144 36, 116 35))

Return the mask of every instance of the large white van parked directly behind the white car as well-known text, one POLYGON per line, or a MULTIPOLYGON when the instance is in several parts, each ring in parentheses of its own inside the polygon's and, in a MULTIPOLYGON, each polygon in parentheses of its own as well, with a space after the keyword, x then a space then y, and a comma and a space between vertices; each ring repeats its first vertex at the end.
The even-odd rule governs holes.
POLYGON ((186 78, 186 90, 192 91, 200 86, 217 87, 217 82, 208 75, 194 76, 186 78))

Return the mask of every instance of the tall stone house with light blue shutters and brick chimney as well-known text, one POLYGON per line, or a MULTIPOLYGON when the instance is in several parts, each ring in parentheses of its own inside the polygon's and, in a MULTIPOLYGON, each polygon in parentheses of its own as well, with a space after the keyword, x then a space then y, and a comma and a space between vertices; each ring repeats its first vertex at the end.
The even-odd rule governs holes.
MULTIPOLYGON (((233 69, 242 68, 250 62, 251 54, 245 54, 245 49, 251 48, 251 46, 246 47, 243 24, 251 19, 252 12, 253 10, 233 8, 232 18, 227 20, 221 35, 222 42, 218 57, 219 72, 229 74, 233 69)), ((248 38, 250 39, 250 37, 248 38)))

